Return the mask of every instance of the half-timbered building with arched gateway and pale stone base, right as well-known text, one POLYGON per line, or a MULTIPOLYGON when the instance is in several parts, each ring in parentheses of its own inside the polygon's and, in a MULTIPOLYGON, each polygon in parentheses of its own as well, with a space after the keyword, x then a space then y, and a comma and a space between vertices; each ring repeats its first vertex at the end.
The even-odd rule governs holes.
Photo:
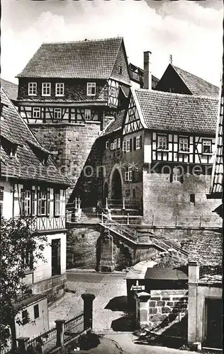
POLYGON ((103 197, 130 200, 150 222, 176 215, 209 222, 217 113, 218 98, 130 89, 128 109, 99 138, 103 197))

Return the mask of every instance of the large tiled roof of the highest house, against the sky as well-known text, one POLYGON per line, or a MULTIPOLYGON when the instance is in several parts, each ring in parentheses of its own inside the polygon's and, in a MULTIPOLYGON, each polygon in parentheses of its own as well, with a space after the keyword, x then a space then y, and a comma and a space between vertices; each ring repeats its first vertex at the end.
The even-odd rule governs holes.
POLYGON ((108 79, 123 38, 43 43, 18 77, 108 79))

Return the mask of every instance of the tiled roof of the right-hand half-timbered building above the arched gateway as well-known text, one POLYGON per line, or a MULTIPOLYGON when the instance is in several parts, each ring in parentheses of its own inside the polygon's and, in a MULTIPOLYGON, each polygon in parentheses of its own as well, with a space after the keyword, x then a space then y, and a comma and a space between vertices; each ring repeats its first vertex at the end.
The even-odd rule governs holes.
POLYGON ((131 90, 138 101, 145 128, 215 135, 218 98, 131 90))

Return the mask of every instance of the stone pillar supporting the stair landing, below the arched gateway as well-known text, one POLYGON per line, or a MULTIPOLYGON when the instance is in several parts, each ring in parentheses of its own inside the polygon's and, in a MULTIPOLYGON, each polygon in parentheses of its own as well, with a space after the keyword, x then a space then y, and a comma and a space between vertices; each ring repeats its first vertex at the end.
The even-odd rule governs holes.
POLYGON ((115 268, 113 261, 113 236, 109 229, 104 227, 101 234, 101 259, 99 262, 100 272, 113 272, 115 268))

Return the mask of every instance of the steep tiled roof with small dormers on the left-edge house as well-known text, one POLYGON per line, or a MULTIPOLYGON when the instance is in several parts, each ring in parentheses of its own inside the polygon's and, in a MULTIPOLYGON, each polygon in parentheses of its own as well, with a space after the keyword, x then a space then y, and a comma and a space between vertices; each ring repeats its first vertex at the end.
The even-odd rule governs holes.
POLYGON ((43 153, 47 154, 47 150, 43 149, 35 139, 2 88, 1 105, 3 105, 1 139, 18 145, 16 158, 10 157, 1 147, 1 176, 71 185, 72 183, 57 169, 50 156, 45 165, 41 163, 39 156, 43 153))

